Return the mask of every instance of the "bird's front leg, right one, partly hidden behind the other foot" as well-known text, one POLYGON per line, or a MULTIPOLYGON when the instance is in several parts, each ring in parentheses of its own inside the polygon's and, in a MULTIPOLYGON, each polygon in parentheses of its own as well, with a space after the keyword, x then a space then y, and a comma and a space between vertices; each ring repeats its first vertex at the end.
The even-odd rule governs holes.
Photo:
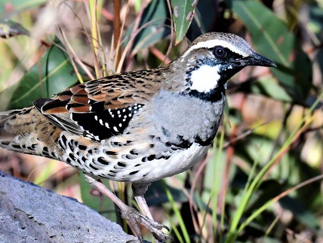
POLYGON ((163 224, 160 224, 156 221, 154 221, 153 216, 149 210, 149 207, 147 205, 146 199, 144 197, 144 193, 147 191, 150 183, 132 183, 132 190, 134 193, 134 198, 141 210, 141 212, 147 216, 152 222, 154 222, 155 228, 159 229, 160 231, 152 231, 150 230, 154 237, 155 237, 155 243, 160 243, 165 240, 165 238, 171 239, 169 236, 165 235, 161 230, 164 228, 167 231, 169 231, 169 228, 163 224))

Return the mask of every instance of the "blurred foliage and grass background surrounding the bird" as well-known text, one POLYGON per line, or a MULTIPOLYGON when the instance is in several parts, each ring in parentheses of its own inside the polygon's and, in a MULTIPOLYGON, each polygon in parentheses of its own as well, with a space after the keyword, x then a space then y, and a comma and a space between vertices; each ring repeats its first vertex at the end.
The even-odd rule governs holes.
MULTIPOLYGON (((179 243, 323 242, 322 0, 0 0, 0 109, 163 65, 208 31, 244 37, 278 68, 231 79, 207 158, 146 193, 155 220, 179 243)), ((131 234, 71 166, 1 149, 0 169, 131 234)), ((128 184, 105 184, 135 204, 128 184)))

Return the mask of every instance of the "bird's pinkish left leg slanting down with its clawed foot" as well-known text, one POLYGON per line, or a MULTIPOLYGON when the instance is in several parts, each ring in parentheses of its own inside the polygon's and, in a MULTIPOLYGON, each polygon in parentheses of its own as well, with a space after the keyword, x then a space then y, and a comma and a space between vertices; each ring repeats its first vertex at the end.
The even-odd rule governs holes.
POLYGON ((124 204, 113 192, 111 192, 103 183, 97 181, 95 178, 93 178, 90 175, 84 174, 84 177, 88 183, 90 183, 96 190, 101 192, 103 195, 110 198, 115 205, 118 206, 118 208, 121 211, 121 217, 124 219, 129 220, 130 224, 132 225, 135 233, 137 234, 138 240, 142 243, 143 242, 143 236, 141 234, 139 224, 145 226, 149 231, 151 231, 153 234, 160 235, 163 237, 162 240, 166 240, 167 238, 170 238, 169 236, 165 235, 161 229, 163 228, 161 224, 155 222, 154 220, 150 219, 147 216, 144 216, 140 214, 137 210, 134 208, 129 207, 128 205, 124 204))

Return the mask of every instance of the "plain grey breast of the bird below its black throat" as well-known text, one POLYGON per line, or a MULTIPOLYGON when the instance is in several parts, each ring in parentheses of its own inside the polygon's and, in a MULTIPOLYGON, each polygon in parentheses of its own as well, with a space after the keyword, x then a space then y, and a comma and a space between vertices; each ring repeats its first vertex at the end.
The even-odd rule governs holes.
POLYGON ((180 95, 161 90, 153 99, 149 120, 162 142, 193 143, 198 136, 201 140, 213 139, 219 127, 224 100, 207 102, 189 95, 180 95))

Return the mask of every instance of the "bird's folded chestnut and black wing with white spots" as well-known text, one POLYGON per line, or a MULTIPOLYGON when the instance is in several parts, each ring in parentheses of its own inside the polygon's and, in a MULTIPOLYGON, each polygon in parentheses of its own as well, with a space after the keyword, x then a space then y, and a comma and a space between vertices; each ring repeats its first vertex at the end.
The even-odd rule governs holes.
POLYGON ((136 71, 76 85, 34 106, 57 127, 100 141, 121 134, 161 88, 153 71, 136 71))

